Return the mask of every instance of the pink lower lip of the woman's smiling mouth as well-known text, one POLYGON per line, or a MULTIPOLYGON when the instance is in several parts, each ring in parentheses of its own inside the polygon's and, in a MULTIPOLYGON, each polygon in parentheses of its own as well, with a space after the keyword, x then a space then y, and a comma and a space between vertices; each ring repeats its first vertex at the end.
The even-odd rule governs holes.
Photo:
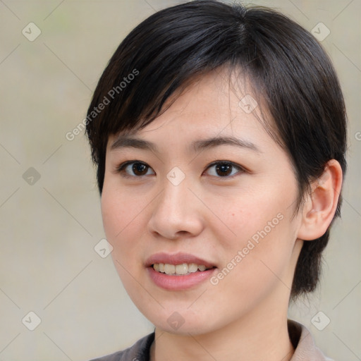
POLYGON ((148 267, 147 270, 150 278, 157 286, 164 288, 165 290, 186 290, 188 288, 194 288, 200 283, 207 281, 207 279, 214 274, 216 268, 207 269, 206 271, 197 271, 181 276, 162 274, 161 272, 156 271, 153 267, 148 267))

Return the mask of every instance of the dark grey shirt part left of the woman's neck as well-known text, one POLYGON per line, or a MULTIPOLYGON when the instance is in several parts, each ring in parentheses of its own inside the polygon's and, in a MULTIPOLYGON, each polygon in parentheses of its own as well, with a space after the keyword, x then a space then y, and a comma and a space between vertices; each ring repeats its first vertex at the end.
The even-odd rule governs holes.
POLYGON ((133 346, 126 350, 111 353, 90 361, 149 361, 149 349, 154 341, 154 332, 140 338, 133 346))

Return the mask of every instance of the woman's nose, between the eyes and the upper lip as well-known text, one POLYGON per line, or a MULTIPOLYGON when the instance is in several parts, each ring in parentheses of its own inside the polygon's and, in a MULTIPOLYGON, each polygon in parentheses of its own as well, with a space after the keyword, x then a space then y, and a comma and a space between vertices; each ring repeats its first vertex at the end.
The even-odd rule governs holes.
POLYGON ((148 222, 149 232, 170 240, 200 234, 204 227, 204 206, 195 196, 194 190, 190 190, 192 185, 187 177, 178 185, 173 185, 165 178, 161 187, 162 191, 152 202, 154 205, 148 222))

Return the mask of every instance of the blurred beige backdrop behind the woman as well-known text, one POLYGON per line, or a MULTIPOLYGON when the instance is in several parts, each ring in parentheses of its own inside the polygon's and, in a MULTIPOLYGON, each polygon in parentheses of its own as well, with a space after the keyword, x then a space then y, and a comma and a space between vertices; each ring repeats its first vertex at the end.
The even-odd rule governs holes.
MULTIPOLYGON (((70 141, 66 133, 84 118, 121 40, 179 2, 0 0, 0 360, 89 360, 152 331, 111 257, 94 250, 104 232, 90 151, 83 134, 70 141)), ((253 4, 277 8, 307 30, 320 22, 330 30, 322 44, 350 121, 343 217, 325 254, 322 287, 290 307, 290 318, 330 357, 361 360, 361 1, 253 4), (311 322, 317 312, 322 327, 330 320, 324 329, 311 322)))

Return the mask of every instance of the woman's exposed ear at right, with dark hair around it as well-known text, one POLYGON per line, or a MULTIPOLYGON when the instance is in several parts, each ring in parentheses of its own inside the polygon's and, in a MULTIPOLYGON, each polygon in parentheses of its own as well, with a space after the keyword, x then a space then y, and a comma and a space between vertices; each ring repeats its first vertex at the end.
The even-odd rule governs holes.
POLYGON ((312 192, 302 208, 299 239, 315 240, 326 233, 336 212, 342 180, 341 165, 331 159, 327 162, 322 176, 311 184, 312 192))

